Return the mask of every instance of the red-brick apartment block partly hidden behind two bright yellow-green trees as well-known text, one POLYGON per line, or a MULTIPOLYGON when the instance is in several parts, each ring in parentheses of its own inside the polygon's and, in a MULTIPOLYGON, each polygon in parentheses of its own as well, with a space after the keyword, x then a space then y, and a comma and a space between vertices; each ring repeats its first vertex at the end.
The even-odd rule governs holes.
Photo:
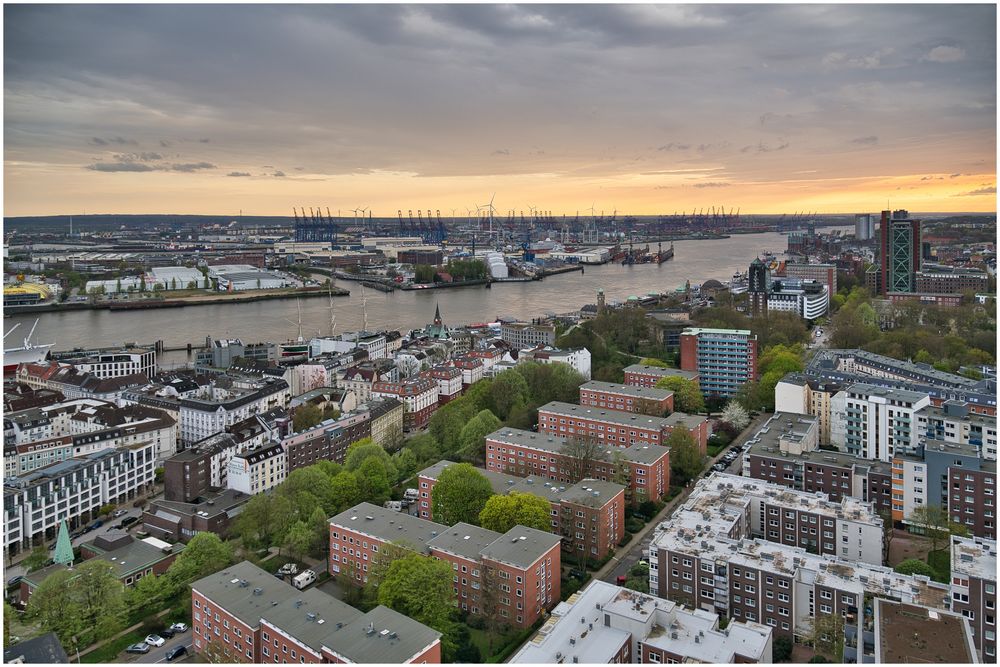
MULTIPOLYGON (((441 472, 451 461, 439 461, 417 474, 418 513, 432 515, 432 498, 441 472)), ((562 535, 562 549, 577 559, 600 560, 625 536, 625 487, 604 480, 583 479, 560 486, 542 477, 515 477, 490 470, 480 471, 490 481, 493 493, 530 493, 551 505, 552 532, 562 535)))

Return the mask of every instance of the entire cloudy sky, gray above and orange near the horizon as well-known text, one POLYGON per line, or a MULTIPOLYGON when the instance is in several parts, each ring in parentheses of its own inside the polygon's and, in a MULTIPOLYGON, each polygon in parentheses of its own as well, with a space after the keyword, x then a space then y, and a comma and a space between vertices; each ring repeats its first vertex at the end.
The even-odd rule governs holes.
POLYGON ((4 213, 996 210, 993 5, 4 6, 4 213))

